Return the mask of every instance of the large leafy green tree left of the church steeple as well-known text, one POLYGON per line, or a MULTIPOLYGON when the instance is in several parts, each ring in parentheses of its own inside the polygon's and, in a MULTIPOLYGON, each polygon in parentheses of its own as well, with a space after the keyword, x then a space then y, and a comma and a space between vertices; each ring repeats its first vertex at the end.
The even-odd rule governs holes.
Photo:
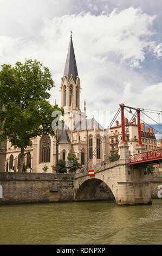
POLYGON ((20 166, 23 170, 24 150, 30 138, 48 134, 55 136, 51 127, 51 113, 63 110, 47 101, 54 82, 47 67, 37 60, 4 64, 0 71, 0 141, 9 138, 12 145, 21 148, 20 166))

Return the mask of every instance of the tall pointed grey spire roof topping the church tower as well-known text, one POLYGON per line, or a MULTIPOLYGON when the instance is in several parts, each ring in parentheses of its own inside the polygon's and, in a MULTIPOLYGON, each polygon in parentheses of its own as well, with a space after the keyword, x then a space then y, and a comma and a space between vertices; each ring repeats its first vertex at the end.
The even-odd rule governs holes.
POLYGON ((69 44, 66 64, 65 64, 65 68, 64 68, 64 74, 63 74, 63 76, 67 77, 68 82, 70 79, 70 75, 73 75, 74 82, 76 82, 76 76, 78 76, 78 73, 77 73, 77 66, 76 66, 76 60, 75 60, 72 34, 70 36, 70 44, 69 44))

